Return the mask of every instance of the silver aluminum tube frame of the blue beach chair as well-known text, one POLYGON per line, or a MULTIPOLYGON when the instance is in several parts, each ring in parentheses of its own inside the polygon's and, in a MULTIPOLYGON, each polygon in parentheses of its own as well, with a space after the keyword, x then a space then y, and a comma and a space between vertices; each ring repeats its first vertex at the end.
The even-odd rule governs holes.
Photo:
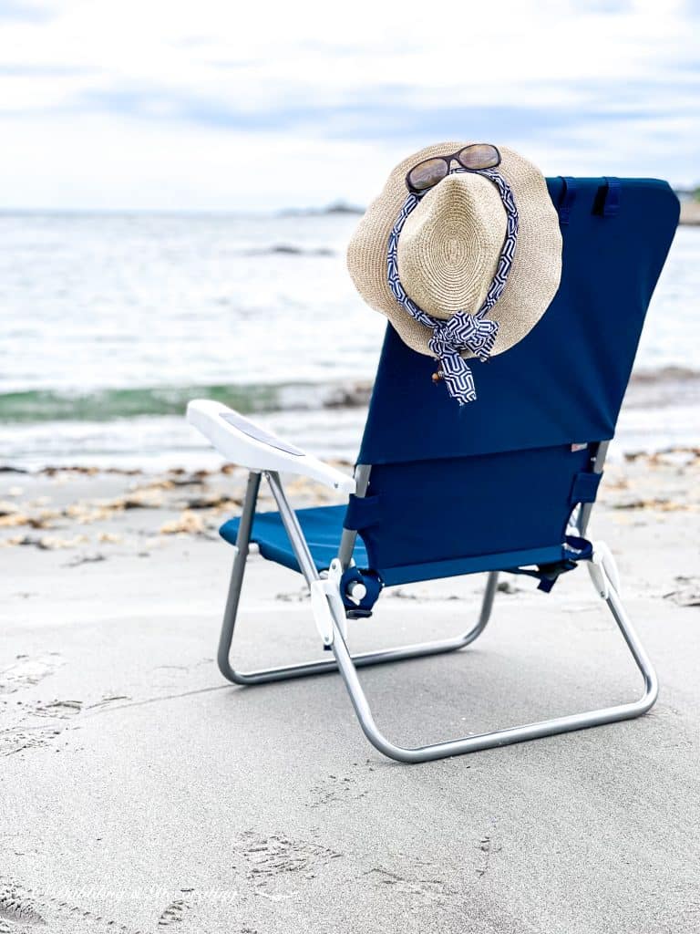
MULTIPOLYGON (((607 443, 598 448, 595 461, 595 470, 602 470, 602 462, 607 451, 607 443)), ((357 495, 363 496, 368 486, 371 468, 358 465, 356 471, 357 495)), ((642 675, 644 690, 637 701, 603 707, 581 714, 553 717, 536 723, 528 723, 508 729, 498 729, 478 735, 465 736, 455 740, 441 743, 429 743, 425 746, 403 747, 386 739, 378 729, 371 713, 371 707, 357 676, 357 669, 370 665, 385 664, 387 662, 401 661, 406 658, 424 658, 446 652, 454 652, 474 642, 483 632, 491 616, 494 597, 497 592, 498 572, 488 573, 487 584, 483 594, 482 608, 476 624, 466 633, 450 639, 435 642, 401 645, 397 648, 383 649, 375 652, 364 652, 352 655, 343 637, 344 619, 340 618, 337 604, 329 601, 332 616, 332 649, 335 660, 309 661, 301 664, 282 666, 278 668, 262 669, 255 672, 239 672, 231 665, 231 644, 238 615, 239 601, 243 587, 245 563, 249 552, 250 535, 258 501, 261 474, 264 474, 273 493, 279 509, 281 520, 299 562, 301 573, 309 587, 321 578, 316 570, 314 559, 306 543, 299 521, 294 510, 287 501, 287 494, 275 471, 251 471, 248 474, 243 513, 238 530, 235 557, 231 571, 231 584, 226 603, 221 636, 218 646, 217 661, 221 673, 237 685, 259 685, 273 681, 284 681, 290 678, 306 677, 312 674, 326 672, 340 672, 343 682, 350 695, 355 708, 357 719, 370 743, 385 756, 399 762, 426 762, 448 756, 458 756, 465 753, 476 752, 482 749, 492 749, 510 743, 521 743, 539 737, 553 736, 577 729, 601 726, 628 720, 645 714, 656 701, 658 695, 658 681, 643 646, 640 644, 632 623, 625 612, 623 601, 619 594, 617 572, 609 563, 593 561, 589 563, 589 571, 599 596, 608 604, 609 611, 617 623, 625 644, 642 675)), ((590 506, 582 506, 576 518, 576 531, 583 534, 586 531, 590 506)), ((356 532, 343 531, 343 538, 339 547, 338 559, 343 568, 347 567, 352 556, 356 532)), ((595 558, 595 554, 594 554, 595 558)))

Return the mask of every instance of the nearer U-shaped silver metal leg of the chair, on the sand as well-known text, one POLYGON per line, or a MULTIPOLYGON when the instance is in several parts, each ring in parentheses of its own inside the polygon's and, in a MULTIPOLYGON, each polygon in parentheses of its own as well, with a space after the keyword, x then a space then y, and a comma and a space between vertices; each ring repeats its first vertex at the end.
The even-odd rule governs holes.
POLYGON ((605 723, 632 719, 645 714, 651 708, 654 701, 656 701, 659 690, 656 673, 651 666, 651 661, 639 643, 637 634, 624 610, 623 603, 613 587, 609 587, 606 602, 644 679, 644 692, 638 701, 618 704, 614 707, 604 707, 585 714, 555 717, 551 720, 525 724, 522 727, 499 729, 493 732, 481 733, 478 736, 467 736, 444 743, 404 748, 387 740, 374 722, 370 705, 357 677, 356 665, 353 663, 347 645, 343 641, 343 635, 337 627, 334 632, 333 652, 355 707, 360 726, 370 743, 381 753, 399 762, 427 762, 431 759, 460 756, 480 749, 493 749, 497 746, 522 743, 525 740, 534 740, 542 736, 553 736, 556 733, 587 729, 605 723))

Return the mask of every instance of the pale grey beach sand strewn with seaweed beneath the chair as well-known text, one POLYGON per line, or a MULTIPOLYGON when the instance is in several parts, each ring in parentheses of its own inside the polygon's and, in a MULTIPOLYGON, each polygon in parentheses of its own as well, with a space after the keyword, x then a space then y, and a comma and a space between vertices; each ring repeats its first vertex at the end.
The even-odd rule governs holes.
MULTIPOLYGON (((610 463, 592 523, 657 666, 651 713, 415 767, 366 742, 337 676, 238 688, 217 672, 217 526, 244 483, 0 474, 0 931, 700 929, 700 450, 610 463)), ((351 641, 464 630, 483 582, 387 591, 351 641)), ((502 582, 473 647, 362 672, 392 739, 637 696, 583 569, 547 596, 502 582)), ((318 647, 301 578, 254 555, 244 666, 318 647)))

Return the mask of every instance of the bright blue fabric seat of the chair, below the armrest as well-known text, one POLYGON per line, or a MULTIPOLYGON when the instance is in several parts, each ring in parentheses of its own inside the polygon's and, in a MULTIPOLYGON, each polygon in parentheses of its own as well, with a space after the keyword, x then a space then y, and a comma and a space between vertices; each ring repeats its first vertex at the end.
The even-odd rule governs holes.
MULTIPOLYGON (((296 510, 301 531, 309 545, 317 571, 325 571, 338 554, 346 508, 346 506, 315 506, 312 509, 296 510)), ((240 519, 232 518, 218 530, 221 537, 231 545, 236 544, 239 523, 240 519)), ((263 558, 301 573, 279 513, 257 513, 253 521, 250 540, 258 544, 263 558)), ((367 551, 359 536, 355 545, 354 558, 358 567, 367 567, 367 551)))

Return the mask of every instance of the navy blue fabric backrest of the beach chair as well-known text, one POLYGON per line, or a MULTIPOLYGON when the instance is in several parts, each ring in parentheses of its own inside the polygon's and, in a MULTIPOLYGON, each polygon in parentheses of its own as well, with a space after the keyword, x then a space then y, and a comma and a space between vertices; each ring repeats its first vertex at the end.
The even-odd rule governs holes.
POLYGON ((345 523, 386 583, 553 556, 572 507, 595 498, 592 461, 614 434, 679 203, 656 179, 547 184, 561 284, 523 341, 474 364, 475 403, 449 398, 434 361, 387 327, 357 458, 371 464, 367 501, 345 523))

